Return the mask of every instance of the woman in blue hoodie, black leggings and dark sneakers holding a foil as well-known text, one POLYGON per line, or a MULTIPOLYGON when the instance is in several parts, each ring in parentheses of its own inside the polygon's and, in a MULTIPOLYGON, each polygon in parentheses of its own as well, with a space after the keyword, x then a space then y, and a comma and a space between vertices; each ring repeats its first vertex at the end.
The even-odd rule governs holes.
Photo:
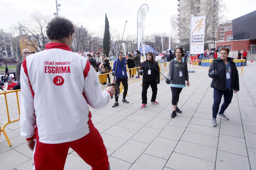
MULTIPOLYGON (((119 53, 118 59, 116 59, 114 61, 113 64, 113 71, 115 71, 115 84, 120 86, 120 83, 122 82, 123 86, 124 86, 124 93, 123 93, 123 103, 129 103, 129 101, 125 100, 127 91, 128 91, 128 76, 127 76, 127 71, 126 71, 126 63, 125 63, 125 59, 123 58, 123 53, 119 53), (116 67, 117 64, 117 67, 116 67), (116 68, 115 68, 116 67, 116 68), (116 70, 115 70, 116 69, 116 70)), ((118 103, 118 97, 116 97, 115 95, 115 103, 113 104, 112 107, 116 107, 119 106, 118 103)))

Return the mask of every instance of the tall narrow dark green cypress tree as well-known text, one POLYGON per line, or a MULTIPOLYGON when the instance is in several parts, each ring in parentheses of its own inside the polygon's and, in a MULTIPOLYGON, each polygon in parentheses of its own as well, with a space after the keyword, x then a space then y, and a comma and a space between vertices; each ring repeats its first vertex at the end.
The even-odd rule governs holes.
POLYGON ((104 30, 104 37, 103 37, 103 53, 109 57, 110 51, 110 32, 109 32, 109 20, 107 14, 105 15, 105 30, 104 30))

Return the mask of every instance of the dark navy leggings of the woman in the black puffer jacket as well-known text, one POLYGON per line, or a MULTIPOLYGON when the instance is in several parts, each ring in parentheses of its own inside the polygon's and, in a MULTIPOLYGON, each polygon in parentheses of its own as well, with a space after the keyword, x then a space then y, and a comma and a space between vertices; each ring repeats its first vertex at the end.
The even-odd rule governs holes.
POLYGON ((219 107, 220 107, 220 111, 219 113, 224 113, 224 111, 228 108, 228 105, 231 103, 233 97, 233 90, 218 90, 218 89, 214 89, 213 90, 213 105, 212 105, 212 118, 217 117, 218 111, 219 111, 219 107), (222 95, 224 96, 224 102, 222 103, 221 107, 220 107, 220 102, 221 102, 221 98, 222 95))

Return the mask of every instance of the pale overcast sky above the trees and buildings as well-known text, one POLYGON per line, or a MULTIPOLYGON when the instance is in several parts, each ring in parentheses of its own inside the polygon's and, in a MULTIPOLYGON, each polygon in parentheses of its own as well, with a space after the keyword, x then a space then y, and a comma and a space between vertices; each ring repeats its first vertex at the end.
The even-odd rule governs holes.
MULTIPOLYGON (((253 0, 223 0, 227 5, 226 16, 229 20, 248 14, 256 9, 253 0)), ((145 19, 145 34, 168 33, 171 30, 170 18, 177 15, 177 0, 58 0, 61 4, 60 16, 83 25, 89 31, 100 31, 104 27, 105 13, 111 28, 123 32, 127 20, 125 33, 137 34, 137 12, 141 5, 148 5, 145 19)), ((1 0, 0 29, 8 29, 19 20, 26 20, 33 11, 43 15, 53 16, 56 12, 55 0, 1 0)))

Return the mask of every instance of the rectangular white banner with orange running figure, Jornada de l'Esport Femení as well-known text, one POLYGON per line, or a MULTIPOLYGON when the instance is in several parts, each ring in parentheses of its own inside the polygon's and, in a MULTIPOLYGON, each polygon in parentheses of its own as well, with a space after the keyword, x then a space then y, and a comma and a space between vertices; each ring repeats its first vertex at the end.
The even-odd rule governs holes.
POLYGON ((190 54, 204 53, 205 16, 191 17, 190 54))

